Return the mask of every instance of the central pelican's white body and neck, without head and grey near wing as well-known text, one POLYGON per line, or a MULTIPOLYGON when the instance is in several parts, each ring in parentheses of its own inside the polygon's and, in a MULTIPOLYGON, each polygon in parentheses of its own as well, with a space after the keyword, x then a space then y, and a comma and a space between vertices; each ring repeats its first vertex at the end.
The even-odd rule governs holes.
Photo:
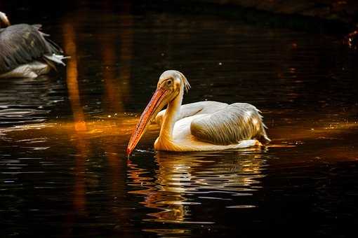
POLYGON ((229 105, 222 102, 196 102, 182 106, 183 94, 184 86, 180 88, 178 96, 168 103, 167 109, 159 112, 155 118, 161 125, 159 137, 154 142, 156 151, 221 151, 261 145, 256 139, 241 140, 228 145, 201 141, 192 134, 192 121, 218 111, 223 111, 224 118, 225 108, 229 105))

